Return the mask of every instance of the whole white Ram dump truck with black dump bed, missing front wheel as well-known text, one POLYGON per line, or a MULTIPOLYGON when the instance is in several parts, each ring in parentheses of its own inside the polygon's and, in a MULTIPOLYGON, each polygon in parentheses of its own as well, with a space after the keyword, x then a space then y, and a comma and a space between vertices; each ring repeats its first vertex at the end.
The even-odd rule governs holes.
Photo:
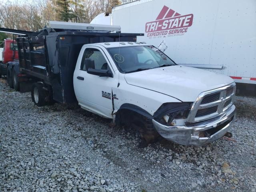
POLYGON ((16 39, 20 88, 31 84, 37 106, 78 102, 116 124, 136 126, 147 142, 160 135, 202 146, 230 129, 232 78, 178 65, 155 46, 138 42, 143 34, 120 33, 120 26, 46 26, 16 39))

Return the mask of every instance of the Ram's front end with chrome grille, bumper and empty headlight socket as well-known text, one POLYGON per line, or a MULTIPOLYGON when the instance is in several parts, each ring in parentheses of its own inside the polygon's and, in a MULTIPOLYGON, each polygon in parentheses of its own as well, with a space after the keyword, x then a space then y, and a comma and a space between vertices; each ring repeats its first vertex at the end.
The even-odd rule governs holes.
POLYGON ((165 139, 202 146, 224 136, 234 119, 234 83, 201 93, 194 103, 163 104, 152 123, 165 139))

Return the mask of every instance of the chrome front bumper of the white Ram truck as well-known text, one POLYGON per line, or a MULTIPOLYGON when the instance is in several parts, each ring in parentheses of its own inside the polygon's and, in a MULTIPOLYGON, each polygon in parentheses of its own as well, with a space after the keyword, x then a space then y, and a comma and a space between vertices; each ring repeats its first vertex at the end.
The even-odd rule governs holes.
POLYGON ((223 137, 230 129, 236 107, 232 105, 224 114, 188 126, 165 126, 152 120, 157 132, 165 139, 181 145, 202 146, 223 137))

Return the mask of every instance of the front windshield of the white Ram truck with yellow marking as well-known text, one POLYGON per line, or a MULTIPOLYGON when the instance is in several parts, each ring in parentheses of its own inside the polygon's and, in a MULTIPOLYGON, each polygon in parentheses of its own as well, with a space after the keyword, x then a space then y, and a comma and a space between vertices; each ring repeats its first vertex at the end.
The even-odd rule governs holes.
POLYGON ((176 65, 163 52, 153 46, 108 48, 116 66, 122 73, 136 72, 162 66, 176 65))

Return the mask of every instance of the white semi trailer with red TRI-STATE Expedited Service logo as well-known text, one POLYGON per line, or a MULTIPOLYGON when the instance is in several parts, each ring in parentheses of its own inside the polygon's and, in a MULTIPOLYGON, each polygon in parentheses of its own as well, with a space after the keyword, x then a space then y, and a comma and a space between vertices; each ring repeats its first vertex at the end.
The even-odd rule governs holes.
POLYGON ((138 41, 157 46, 178 64, 256 84, 255 0, 138 0, 92 23, 144 33, 138 41))

